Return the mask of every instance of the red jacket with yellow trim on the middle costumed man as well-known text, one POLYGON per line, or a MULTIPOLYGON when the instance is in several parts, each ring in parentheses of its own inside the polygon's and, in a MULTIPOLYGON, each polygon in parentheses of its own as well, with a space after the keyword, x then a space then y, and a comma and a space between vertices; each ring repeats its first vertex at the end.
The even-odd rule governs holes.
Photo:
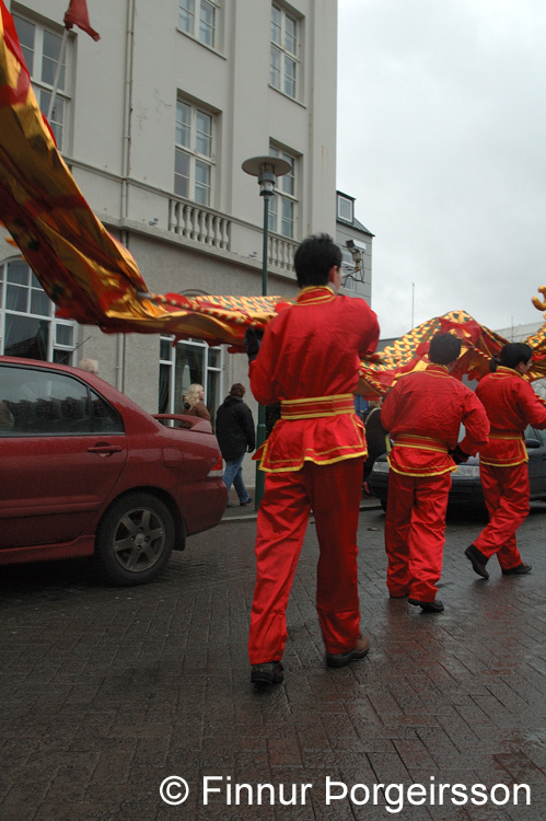
POLYGON ((391 467, 410 476, 432 476, 455 470, 448 451, 458 438, 474 455, 488 441, 489 421, 476 394, 443 365, 429 365, 398 379, 383 400, 381 424, 394 438, 391 467))

